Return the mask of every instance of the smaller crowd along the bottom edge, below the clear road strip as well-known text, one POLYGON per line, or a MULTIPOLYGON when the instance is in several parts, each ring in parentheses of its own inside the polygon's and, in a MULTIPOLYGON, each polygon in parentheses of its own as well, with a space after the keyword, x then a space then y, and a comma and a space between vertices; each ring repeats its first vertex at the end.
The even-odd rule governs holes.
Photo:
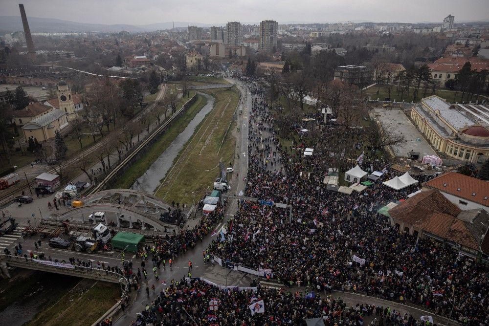
POLYGON ((255 289, 221 289, 199 279, 169 284, 136 316, 139 325, 304 325, 321 318, 329 325, 420 325, 412 316, 375 305, 347 307, 341 299, 321 298, 314 292, 289 292, 258 285, 255 289), (263 301, 263 302, 262 302, 263 301), (263 306, 263 312, 260 307, 263 306), (251 313, 251 308, 256 312, 251 313))

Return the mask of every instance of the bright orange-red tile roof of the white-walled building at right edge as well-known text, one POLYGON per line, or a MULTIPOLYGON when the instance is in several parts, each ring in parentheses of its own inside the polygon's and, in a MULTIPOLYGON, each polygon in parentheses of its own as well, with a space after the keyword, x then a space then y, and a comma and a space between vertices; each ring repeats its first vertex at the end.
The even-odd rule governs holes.
POLYGON ((423 186, 489 207, 489 182, 487 181, 448 172, 425 182, 423 186), (472 196, 473 194, 475 195, 472 196))

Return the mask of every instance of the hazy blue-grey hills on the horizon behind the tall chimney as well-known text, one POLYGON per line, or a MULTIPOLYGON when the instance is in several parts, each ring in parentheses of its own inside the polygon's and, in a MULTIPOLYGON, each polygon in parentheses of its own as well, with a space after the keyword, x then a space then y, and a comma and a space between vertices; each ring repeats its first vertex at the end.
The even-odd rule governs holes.
MULTIPOLYGON (((89 24, 84 22, 70 22, 60 19, 49 19, 39 17, 27 17, 31 32, 150 32, 158 29, 169 29, 173 27, 173 22, 158 22, 142 26, 116 24, 89 24)), ((194 26, 213 26, 213 24, 202 24, 196 22, 175 22, 175 27, 194 26)), ((222 24, 217 24, 222 25, 222 24)), ((0 16, 0 31, 10 32, 22 30, 22 20, 20 16, 0 16)))

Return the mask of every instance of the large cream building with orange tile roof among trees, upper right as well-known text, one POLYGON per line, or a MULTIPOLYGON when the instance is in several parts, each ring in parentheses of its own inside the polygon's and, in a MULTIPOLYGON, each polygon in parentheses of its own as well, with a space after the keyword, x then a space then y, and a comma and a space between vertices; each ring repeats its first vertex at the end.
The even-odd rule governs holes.
POLYGON ((466 62, 470 62, 470 68, 481 71, 483 69, 489 69, 489 61, 481 60, 477 57, 464 58, 464 57, 445 57, 440 58, 428 67, 433 73, 433 78, 440 81, 442 85, 448 79, 457 79, 458 72, 465 65, 466 62))

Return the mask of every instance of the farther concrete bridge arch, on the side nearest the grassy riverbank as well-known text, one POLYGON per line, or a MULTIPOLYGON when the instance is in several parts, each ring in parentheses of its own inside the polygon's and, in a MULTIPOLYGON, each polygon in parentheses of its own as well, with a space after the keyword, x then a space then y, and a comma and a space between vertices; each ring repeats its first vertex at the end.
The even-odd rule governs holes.
POLYGON ((160 215, 171 210, 171 205, 158 197, 149 195, 139 190, 133 189, 108 189, 99 191, 82 199, 84 204, 106 203, 108 200, 112 204, 113 199, 117 198, 124 206, 132 207, 142 211, 147 215, 160 215))

